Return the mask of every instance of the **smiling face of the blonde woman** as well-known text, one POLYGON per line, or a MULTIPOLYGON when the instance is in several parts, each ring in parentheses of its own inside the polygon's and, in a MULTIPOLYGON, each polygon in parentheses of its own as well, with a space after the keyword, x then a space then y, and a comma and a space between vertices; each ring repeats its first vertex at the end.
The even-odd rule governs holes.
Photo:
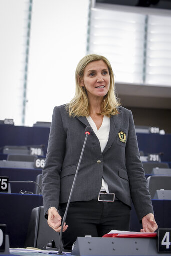
POLYGON ((102 60, 90 62, 84 70, 81 86, 86 88, 88 98, 104 97, 110 87, 110 75, 102 60))

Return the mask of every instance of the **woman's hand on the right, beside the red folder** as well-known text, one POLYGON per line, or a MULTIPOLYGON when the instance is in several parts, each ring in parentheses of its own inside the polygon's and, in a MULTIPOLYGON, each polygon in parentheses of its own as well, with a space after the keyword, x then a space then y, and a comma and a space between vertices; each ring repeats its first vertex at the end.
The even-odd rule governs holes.
POLYGON ((158 225, 155 221, 154 214, 149 213, 142 218, 142 228, 141 232, 151 232, 153 233, 157 230, 158 225))

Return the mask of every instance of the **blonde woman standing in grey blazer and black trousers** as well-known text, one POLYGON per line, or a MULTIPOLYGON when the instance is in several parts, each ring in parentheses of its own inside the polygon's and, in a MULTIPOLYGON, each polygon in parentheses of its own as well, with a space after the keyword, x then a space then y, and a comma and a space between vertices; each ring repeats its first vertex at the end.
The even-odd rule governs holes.
POLYGON ((131 200, 142 232, 154 232, 150 194, 140 161, 132 113, 119 106, 109 61, 89 54, 77 65, 73 100, 54 108, 42 187, 48 224, 61 230, 87 125, 87 139, 63 227, 64 248, 78 236, 129 230, 131 200), (101 193, 103 192, 103 193, 101 193), (59 210, 59 213, 58 213, 59 210))

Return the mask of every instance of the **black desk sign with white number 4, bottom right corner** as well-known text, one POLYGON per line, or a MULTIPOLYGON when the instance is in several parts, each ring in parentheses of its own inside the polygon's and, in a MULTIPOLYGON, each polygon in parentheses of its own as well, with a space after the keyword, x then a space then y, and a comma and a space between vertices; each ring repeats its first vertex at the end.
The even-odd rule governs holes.
POLYGON ((171 228, 159 228, 158 230, 158 252, 171 252, 171 228))

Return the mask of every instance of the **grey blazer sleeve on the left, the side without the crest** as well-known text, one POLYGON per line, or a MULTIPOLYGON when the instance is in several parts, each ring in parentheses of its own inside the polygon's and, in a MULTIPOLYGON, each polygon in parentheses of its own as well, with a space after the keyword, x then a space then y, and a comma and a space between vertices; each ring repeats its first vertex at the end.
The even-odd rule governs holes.
POLYGON ((60 172, 65 154, 66 134, 63 129, 60 108, 55 107, 49 134, 45 167, 42 170, 42 194, 44 212, 59 207, 60 172))

